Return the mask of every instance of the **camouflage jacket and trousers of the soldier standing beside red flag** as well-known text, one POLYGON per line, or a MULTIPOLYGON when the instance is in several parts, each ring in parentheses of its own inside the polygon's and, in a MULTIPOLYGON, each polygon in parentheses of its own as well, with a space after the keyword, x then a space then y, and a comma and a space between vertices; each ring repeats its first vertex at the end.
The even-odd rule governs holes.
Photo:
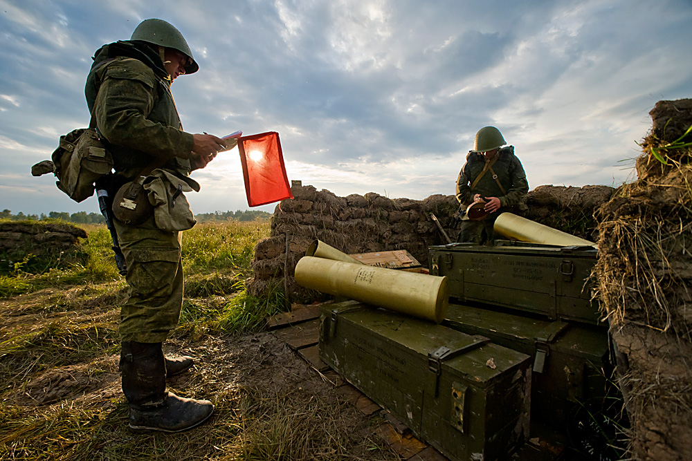
MULTIPOLYGON (((170 173, 188 176, 194 141, 182 131, 158 53, 141 42, 118 41, 104 45, 93 59, 86 102, 113 156, 116 186, 154 160, 170 173)), ((120 339, 161 343, 177 325, 183 303, 181 233, 159 229, 154 216, 140 225, 118 220, 115 225, 129 285, 120 308, 120 339)))

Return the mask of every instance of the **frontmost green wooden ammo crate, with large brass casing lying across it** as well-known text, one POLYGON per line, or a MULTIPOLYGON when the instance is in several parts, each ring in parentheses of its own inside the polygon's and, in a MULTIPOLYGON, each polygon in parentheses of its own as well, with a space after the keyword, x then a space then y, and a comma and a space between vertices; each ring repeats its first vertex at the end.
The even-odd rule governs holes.
POLYGON ((506 460, 529 436, 531 359, 357 301, 324 305, 320 358, 450 460, 506 460))

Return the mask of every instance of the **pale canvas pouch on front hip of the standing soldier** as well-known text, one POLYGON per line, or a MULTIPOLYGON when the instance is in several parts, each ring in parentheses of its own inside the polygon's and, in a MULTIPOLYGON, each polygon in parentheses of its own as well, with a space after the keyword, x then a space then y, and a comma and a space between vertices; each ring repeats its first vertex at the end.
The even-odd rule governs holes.
POLYGON ((192 228, 197 223, 190 203, 183 192, 199 191, 199 184, 190 178, 185 180, 163 169, 154 169, 143 183, 149 203, 154 207, 156 227, 162 231, 178 232, 192 228))

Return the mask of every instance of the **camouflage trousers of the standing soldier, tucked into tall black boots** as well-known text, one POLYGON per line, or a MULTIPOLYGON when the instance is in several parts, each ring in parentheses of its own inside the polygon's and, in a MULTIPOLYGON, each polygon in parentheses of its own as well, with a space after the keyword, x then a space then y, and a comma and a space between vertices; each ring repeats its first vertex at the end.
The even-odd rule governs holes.
POLYGON ((127 263, 120 341, 161 343, 178 324, 183 306, 182 232, 157 229, 153 216, 138 226, 114 222, 127 263))

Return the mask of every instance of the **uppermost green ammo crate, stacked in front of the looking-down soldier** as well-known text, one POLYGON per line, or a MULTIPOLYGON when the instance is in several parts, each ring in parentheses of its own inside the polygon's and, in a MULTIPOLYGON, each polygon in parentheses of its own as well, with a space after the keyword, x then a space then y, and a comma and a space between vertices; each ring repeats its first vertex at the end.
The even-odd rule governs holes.
POLYGON ((450 243, 428 251, 430 274, 449 277, 449 296, 597 324, 590 274, 594 247, 498 241, 495 246, 450 243))

